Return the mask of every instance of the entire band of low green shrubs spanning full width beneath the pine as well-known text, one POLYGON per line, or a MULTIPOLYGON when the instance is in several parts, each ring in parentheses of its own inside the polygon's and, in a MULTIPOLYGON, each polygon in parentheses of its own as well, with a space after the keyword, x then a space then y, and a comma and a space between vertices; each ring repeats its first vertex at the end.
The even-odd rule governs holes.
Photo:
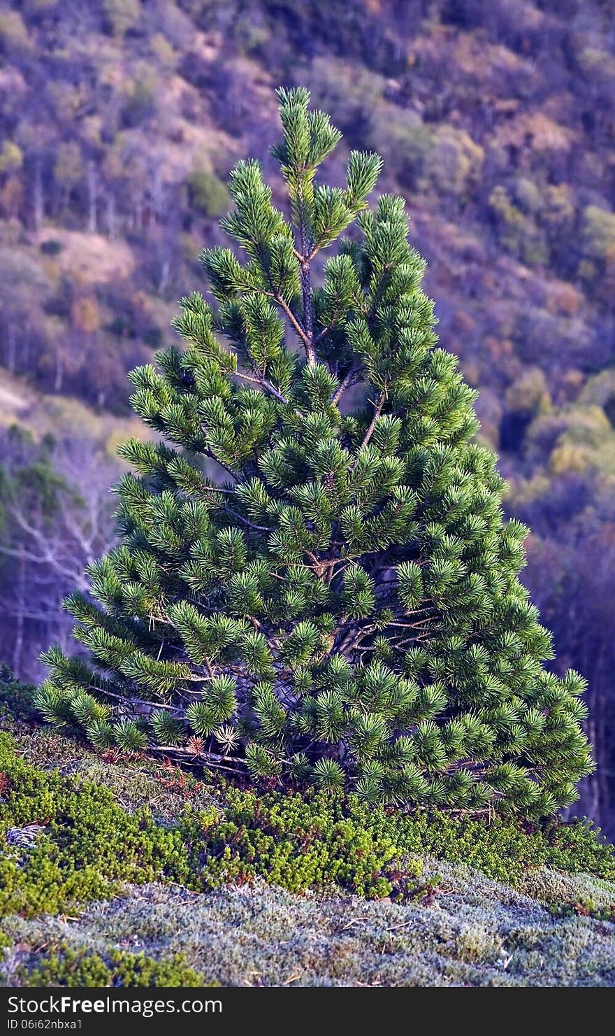
POLYGON ((222 781, 219 794, 219 810, 186 805, 162 826, 99 784, 37 770, 0 735, 0 914, 57 913, 123 882, 206 891, 264 877, 291 892, 336 885, 378 898, 399 886, 401 866, 418 876, 426 854, 509 885, 541 865, 615 877, 613 848, 589 824, 400 814, 340 793, 259 795, 222 781))

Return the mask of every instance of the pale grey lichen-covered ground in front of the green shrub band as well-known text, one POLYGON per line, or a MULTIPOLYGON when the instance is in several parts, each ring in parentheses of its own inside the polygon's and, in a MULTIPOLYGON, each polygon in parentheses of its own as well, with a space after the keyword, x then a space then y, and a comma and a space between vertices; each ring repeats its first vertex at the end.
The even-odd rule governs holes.
POLYGON ((183 953, 206 984, 615 984, 612 923, 554 918, 476 871, 437 867, 444 881, 429 905, 296 896, 264 882, 206 895, 131 887, 71 918, 7 919, 16 949, 5 974, 62 943, 102 957, 115 948, 156 960, 183 953))

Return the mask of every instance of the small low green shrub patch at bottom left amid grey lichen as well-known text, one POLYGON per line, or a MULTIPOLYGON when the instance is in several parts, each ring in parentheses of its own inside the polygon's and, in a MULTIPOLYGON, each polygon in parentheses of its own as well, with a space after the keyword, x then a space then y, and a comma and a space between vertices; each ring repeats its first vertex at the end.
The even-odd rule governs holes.
POLYGON ((183 954, 171 960, 154 960, 146 953, 112 950, 109 960, 91 950, 74 950, 60 943, 38 958, 35 967, 22 965, 19 978, 35 986, 203 986, 202 976, 191 968, 183 954))

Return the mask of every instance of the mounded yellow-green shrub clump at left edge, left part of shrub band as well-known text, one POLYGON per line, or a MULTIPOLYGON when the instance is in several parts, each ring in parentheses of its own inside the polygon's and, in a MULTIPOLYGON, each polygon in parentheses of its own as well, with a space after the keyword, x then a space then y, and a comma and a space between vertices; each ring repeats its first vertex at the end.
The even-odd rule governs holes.
POLYGON ((0 914, 56 913, 110 895, 119 882, 189 876, 178 828, 156 825, 146 809, 125 812, 99 784, 36 770, 7 735, 0 800, 0 914))

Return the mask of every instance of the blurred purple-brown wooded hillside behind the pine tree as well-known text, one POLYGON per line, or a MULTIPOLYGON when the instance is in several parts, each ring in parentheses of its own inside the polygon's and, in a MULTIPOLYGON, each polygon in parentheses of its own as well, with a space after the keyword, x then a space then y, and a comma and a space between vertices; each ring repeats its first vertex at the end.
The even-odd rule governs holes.
POLYGON ((385 159, 479 390, 558 669, 589 682, 615 835, 612 0, 0 0, 0 661, 36 681, 113 542, 126 371, 202 287, 227 174, 301 83, 385 159))

